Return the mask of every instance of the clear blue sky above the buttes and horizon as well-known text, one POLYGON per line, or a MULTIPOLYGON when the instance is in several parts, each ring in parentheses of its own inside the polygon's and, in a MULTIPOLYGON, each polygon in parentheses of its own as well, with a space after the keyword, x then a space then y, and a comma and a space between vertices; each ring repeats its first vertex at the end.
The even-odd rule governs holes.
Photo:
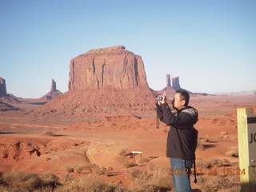
POLYGON ((0 0, 0 77, 8 94, 68 90, 70 60, 126 46, 153 90, 166 74, 200 93, 256 90, 255 0, 0 0))

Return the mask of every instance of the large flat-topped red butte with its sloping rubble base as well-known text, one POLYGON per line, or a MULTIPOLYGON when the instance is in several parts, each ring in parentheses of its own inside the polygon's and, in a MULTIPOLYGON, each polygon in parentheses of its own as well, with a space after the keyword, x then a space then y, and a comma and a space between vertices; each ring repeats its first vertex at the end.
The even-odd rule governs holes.
MULTIPOLYGON (((69 91, 42 106, 54 114, 93 116, 154 112, 141 56, 124 46, 90 50, 70 61, 69 91)), ((52 114, 50 112, 50 114, 52 114)))

